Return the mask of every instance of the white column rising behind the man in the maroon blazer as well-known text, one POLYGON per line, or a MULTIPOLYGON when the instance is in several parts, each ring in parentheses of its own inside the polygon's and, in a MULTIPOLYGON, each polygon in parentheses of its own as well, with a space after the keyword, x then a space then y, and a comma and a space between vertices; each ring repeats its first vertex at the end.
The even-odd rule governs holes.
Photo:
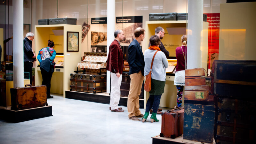
MULTIPOLYGON (((116 24, 116 0, 108 0, 108 20, 107 20, 107 56, 111 42, 114 41, 115 24, 116 24)), ((110 93, 110 72, 107 71, 107 93, 110 93)))

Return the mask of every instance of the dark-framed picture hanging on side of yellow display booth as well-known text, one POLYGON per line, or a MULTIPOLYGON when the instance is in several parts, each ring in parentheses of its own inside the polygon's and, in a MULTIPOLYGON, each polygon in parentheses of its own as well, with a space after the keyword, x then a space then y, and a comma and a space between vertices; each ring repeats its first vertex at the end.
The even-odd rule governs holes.
POLYGON ((79 32, 67 32, 67 52, 78 51, 79 32))

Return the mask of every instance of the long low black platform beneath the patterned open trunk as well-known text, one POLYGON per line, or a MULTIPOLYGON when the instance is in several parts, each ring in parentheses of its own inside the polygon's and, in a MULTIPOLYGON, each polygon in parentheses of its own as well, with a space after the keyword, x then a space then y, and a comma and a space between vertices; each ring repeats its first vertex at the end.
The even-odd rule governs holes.
MULTIPOLYGON (((65 91, 66 98, 75 99, 75 100, 83 100, 89 102, 99 102, 109 104, 110 96, 109 95, 99 95, 99 94, 91 94, 91 93, 83 93, 76 91, 65 91)), ((127 97, 120 97, 120 101, 118 105, 127 106, 127 97)), ((140 99, 140 108, 144 109, 144 100, 140 99)))

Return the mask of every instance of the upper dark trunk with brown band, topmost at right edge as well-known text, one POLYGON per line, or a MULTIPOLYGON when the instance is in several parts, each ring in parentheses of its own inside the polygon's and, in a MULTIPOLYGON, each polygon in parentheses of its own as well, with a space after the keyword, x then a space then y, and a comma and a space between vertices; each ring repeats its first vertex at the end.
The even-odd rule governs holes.
POLYGON ((212 93, 226 98, 244 99, 256 95, 256 61, 252 60, 215 60, 212 64, 212 93))

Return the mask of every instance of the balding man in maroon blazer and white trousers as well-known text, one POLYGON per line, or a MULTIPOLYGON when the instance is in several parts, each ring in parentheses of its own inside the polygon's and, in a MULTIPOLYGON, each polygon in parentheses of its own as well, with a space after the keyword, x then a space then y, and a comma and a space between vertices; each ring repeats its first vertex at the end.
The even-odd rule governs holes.
POLYGON ((120 46, 120 41, 124 38, 124 32, 117 29, 114 33, 115 40, 109 46, 108 60, 107 60, 107 71, 110 71, 111 77, 111 92, 109 109, 113 112, 124 112, 122 108, 117 105, 120 100, 120 86, 122 81, 123 72, 123 51, 120 46))

